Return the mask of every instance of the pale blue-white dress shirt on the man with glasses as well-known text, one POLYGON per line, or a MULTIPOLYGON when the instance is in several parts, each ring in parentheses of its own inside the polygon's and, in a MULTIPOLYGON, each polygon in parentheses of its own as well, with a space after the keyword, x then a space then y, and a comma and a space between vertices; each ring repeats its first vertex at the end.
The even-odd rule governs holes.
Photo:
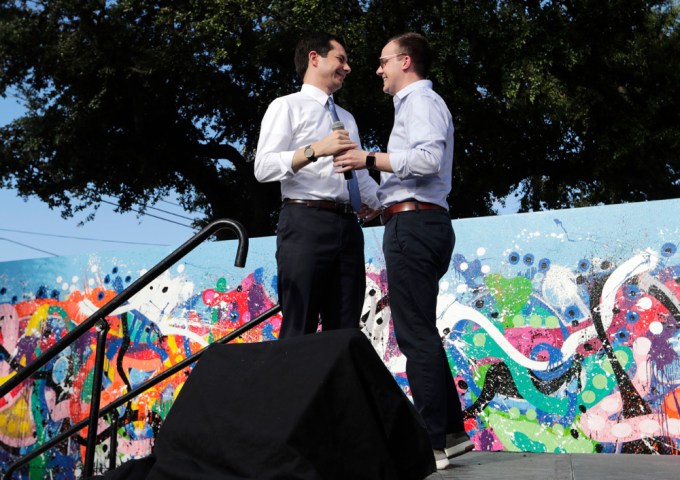
POLYGON ((389 207, 416 199, 448 210, 453 174, 451 112, 429 80, 409 84, 393 101, 394 126, 387 153, 394 173, 380 175, 380 203, 389 207))

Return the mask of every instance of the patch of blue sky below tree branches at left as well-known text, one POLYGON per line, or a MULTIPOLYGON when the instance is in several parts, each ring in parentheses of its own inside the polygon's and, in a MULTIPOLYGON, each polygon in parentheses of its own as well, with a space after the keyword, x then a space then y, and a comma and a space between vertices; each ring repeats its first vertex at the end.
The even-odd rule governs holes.
MULTIPOLYGON (((0 125, 6 125, 21 113, 22 107, 11 93, 7 98, 0 97, 0 125)), ((163 219, 137 218, 136 213, 119 214, 113 211, 113 206, 103 204, 93 221, 79 226, 89 211, 62 219, 58 210, 50 210, 35 197, 26 201, 15 190, 0 189, 0 262, 141 249, 150 245, 178 247, 194 230, 184 226, 189 225, 190 220, 171 213, 190 218, 195 215, 169 201, 171 203, 156 205, 165 212, 149 211, 163 219)))

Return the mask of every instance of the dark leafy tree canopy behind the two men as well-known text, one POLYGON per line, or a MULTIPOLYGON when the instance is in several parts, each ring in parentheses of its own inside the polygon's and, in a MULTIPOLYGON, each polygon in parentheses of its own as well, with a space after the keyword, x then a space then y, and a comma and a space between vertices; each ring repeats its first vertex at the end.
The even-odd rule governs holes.
POLYGON ((385 41, 427 35, 456 122, 454 217, 680 196, 676 0, 0 0, 0 185, 70 216, 177 192, 198 224, 274 230, 278 184, 252 159, 271 100, 299 86, 298 38, 343 35, 338 92, 363 142, 393 108, 375 75, 385 41))

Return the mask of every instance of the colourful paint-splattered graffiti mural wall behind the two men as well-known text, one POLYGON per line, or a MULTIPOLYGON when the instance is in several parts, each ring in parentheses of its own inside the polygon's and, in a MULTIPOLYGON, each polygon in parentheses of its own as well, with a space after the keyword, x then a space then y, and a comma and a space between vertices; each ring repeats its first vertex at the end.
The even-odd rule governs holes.
MULTIPOLYGON (((680 201, 453 222, 438 326, 476 447, 557 453, 678 454, 680 201)), ((408 394, 391 330, 382 228, 366 228, 362 326, 408 394)), ((106 405, 277 302, 274 238, 199 247, 107 318, 106 405)), ((170 250, 0 264, 0 383, 170 250)), ((237 341, 275 340, 274 316, 237 341)), ((96 332, 0 399, 3 470, 86 418, 96 332)), ((151 452, 188 370, 118 409, 117 464, 151 452)), ((237 386, 235 386, 237 387, 237 386)), ((109 420, 97 468, 108 465, 109 420)), ((78 478, 86 431, 21 478, 78 478)))

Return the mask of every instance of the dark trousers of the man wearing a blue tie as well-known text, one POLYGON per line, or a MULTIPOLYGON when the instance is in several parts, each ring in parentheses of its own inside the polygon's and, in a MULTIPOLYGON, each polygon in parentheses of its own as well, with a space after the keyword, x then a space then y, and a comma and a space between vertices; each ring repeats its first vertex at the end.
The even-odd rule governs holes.
POLYGON ((359 328, 366 291, 364 235, 353 214, 285 205, 276 233, 279 338, 359 328))

